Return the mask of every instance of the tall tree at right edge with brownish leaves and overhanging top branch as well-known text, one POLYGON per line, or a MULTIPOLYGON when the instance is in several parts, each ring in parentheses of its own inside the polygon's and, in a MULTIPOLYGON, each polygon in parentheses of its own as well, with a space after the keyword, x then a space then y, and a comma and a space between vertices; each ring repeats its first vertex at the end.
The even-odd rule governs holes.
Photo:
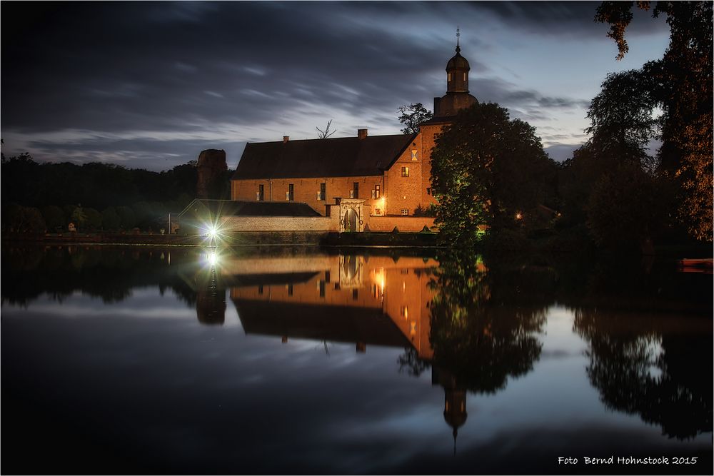
MULTIPOLYGON (((649 1, 637 5, 650 9, 649 1)), ((595 14, 595 20, 610 24, 608 36, 618 44, 618 59, 628 52, 625 31, 632 9, 632 1, 605 1, 595 14)), ((700 240, 711 240, 714 218, 712 12, 710 1, 659 1, 653 16, 666 16, 670 44, 662 59, 643 68, 663 110, 661 170, 678 185, 680 222, 700 240)))

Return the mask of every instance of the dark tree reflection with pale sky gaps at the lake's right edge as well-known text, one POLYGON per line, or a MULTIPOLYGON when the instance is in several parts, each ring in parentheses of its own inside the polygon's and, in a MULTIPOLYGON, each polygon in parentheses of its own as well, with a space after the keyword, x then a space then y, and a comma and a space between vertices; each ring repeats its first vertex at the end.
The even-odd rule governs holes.
POLYGON ((680 440, 711 431, 709 319, 581 309, 574 327, 588 340, 590 383, 610 409, 680 440))

